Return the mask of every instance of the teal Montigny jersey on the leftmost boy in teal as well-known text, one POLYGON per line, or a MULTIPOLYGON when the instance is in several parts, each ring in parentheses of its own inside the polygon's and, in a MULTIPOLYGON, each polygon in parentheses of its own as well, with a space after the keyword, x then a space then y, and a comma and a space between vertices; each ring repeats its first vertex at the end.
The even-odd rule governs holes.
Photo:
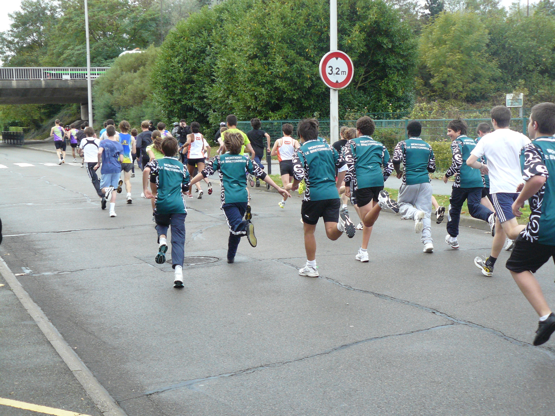
POLYGON ((177 158, 161 158, 150 161, 150 182, 158 187, 154 200, 156 214, 186 214, 187 206, 182 192, 189 190, 189 172, 177 158))

